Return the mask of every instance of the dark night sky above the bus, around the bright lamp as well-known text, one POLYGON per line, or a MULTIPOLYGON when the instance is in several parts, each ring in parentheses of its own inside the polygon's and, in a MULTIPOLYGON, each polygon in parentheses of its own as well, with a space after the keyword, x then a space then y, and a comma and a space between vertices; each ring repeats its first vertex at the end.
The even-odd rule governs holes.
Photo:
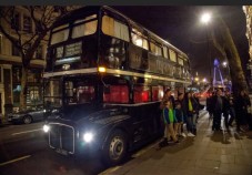
MULTIPOLYGON (((245 14, 242 6, 114 6, 112 8, 187 53, 191 60, 192 71, 198 71, 200 76, 209 76, 210 72, 206 30, 200 23, 200 16, 205 10, 213 14, 218 11, 230 28, 243 64, 249 59, 245 14)), ((214 19, 209 24, 209 30, 211 28, 214 28, 214 19)), ((213 47, 211 47, 211 58, 221 59, 213 47)))

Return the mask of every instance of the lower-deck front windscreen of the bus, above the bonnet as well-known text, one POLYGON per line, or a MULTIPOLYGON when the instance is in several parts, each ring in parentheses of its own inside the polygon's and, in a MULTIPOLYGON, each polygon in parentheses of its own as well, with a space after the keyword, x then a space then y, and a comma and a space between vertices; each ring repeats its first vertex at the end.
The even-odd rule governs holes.
POLYGON ((44 81, 44 104, 49 107, 91 103, 95 97, 94 84, 88 78, 51 79, 44 81))

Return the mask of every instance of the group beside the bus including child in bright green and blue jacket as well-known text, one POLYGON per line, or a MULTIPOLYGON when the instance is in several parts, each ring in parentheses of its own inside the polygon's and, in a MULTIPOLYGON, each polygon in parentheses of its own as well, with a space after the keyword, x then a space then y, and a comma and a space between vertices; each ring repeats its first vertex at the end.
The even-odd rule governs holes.
POLYGON ((188 136, 196 135, 196 120, 199 116, 200 103, 193 92, 179 92, 178 100, 174 100, 172 91, 165 90, 163 100, 160 104, 164 124, 164 140, 161 142, 167 145, 169 142, 179 143, 180 137, 185 137, 183 124, 187 124, 188 136))

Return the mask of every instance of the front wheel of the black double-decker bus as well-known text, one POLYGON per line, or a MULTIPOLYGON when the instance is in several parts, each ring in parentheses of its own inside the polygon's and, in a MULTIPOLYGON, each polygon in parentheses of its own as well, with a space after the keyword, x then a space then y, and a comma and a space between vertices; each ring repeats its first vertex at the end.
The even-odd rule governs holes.
POLYGON ((128 141, 124 132, 112 131, 102 150, 102 162, 108 166, 121 163, 127 156, 128 141))

